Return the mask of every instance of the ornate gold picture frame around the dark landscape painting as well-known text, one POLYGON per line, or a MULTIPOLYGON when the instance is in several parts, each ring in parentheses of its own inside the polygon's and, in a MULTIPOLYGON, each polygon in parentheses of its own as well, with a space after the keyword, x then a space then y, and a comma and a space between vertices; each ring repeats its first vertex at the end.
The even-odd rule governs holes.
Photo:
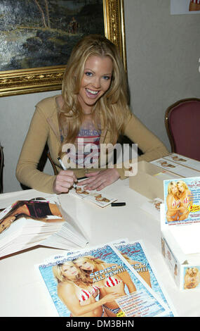
MULTIPOLYGON (((105 37, 119 47, 126 70, 124 0, 102 0, 105 37)), ((61 89, 65 66, 7 70, 0 72, 0 96, 12 96, 61 89)))

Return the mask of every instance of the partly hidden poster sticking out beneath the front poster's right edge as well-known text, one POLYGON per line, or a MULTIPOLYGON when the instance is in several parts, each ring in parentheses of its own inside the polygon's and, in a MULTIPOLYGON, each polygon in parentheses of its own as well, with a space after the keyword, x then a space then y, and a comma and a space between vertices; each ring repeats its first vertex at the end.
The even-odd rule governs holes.
POLYGON ((149 287, 151 287, 153 291, 160 296, 161 300, 163 300, 164 303, 168 305, 169 313, 166 316, 176 316, 177 313, 175 312, 175 308, 170 302, 170 299, 166 294, 166 290, 164 289, 161 280, 159 280, 151 258, 145 249, 145 244, 140 241, 128 242, 126 244, 120 243, 114 246, 119 251, 122 258, 125 258, 126 261, 130 264, 131 268, 134 268, 138 275, 142 277, 143 280, 145 280, 147 285, 149 285, 149 287))

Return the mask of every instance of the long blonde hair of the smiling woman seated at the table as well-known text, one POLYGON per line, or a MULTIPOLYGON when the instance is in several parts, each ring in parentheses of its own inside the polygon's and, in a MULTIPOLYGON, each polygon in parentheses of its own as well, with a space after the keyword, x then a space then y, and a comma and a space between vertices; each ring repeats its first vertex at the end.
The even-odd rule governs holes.
POLYGON ((106 127, 110 131, 111 142, 115 144, 119 133, 123 133, 124 120, 130 113, 126 73, 118 49, 106 37, 88 35, 74 46, 62 80, 63 106, 58 118, 62 132, 67 130, 63 144, 74 143, 78 135, 84 116, 78 101, 78 94, 85 63, 89 56, 94 55, 109 56, 113 63, 113 73, 109 89, 93 107, 93 122, 97 125, 98 119, 102 115, 103 127, 101 129, 106 127))

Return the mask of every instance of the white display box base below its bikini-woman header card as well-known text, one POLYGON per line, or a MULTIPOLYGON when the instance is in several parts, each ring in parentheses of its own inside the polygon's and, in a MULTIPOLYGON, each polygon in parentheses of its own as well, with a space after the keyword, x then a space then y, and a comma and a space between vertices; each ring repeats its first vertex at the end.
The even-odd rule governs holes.
POLYGON ((176 285, 180 290, 200 289, 200 250, 198 249, 200 223, 191 225, 169 225, 165 223, 165 206, 161 204, 161 252, 164 260, 171 271, 176 285), (175 234, 171 231, 173 227, 183 227, 187 232, 187 240, 182 247, 177 242, 175 234), (198 240, 198 242, 196 242, 198 240), (192 243, 197 244, 194 248, 196 253, 191 252, 192 243), (188 254, 187 254, 188 249, 188 254), (198 252, 199 251, 199 252, 198 252))

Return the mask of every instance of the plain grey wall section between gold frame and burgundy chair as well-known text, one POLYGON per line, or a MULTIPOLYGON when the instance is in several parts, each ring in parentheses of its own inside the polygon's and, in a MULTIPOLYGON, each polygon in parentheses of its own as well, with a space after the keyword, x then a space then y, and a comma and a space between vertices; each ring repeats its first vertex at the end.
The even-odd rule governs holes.
POLYGON ((171 15, 170 0, 124 0, 124 7, 132 111, 170 149, 166 108, 200 97, 200 13, 171 15))

